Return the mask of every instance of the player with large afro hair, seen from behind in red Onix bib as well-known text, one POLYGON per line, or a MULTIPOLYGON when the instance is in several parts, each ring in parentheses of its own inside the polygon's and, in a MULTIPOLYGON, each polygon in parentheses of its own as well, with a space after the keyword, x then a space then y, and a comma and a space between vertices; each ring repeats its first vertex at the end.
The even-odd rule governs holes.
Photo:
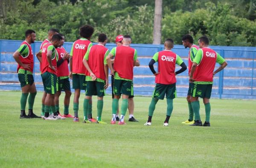
MULTIPOLYGON (((79 110, 79 97, 80 91, 86 90, 86 82, 85 82, 85 73, 86 68, 83 64, 83 58, 87 49, 93 46, 93 43, 90 42, 90 38, 92 37, 94 29, 90 25, 85 25, 80 28, 80 36, 81 38, 73 43, 70 52, 70 78, 73 79, 73 89, 75 89, 74 95, 74 122, 79 122, 78 118, 78 110, 79 110)), ((92 100, 89 101, 89 112, 88 118, 91 122, 96 122, 95 119, 92 118, 92 100)), ((87 116, 86 120, 87 120, 87 116)))

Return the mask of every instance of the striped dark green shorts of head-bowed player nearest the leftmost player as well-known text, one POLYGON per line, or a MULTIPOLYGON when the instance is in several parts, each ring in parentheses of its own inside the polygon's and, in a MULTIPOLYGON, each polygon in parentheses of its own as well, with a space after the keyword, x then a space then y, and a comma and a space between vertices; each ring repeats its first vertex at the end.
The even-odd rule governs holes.
POLYGON ((55 94, 57 91, 57 75, 50 72, 44 72, 41 74, 41 77, 44 84, 44 91, 49 94, 55 94))

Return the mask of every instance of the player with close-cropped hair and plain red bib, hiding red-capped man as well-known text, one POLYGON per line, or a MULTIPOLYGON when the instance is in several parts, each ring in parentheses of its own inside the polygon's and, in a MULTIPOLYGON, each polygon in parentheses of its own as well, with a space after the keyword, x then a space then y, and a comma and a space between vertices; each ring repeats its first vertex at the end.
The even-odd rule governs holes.
POLYGON ((111 74, 114 74, 114 98, 112 101, 112 120, 111 124, 116 124, 116 111, 118 101, 122 93, 121 117, 119 125, 125 125, 125 113, 128 108, 128 98, 133 95, 133 67, 137 60, 137 50, 130 47, 131 37, 123 37, 123 45, 117 46, 111 50, 107 57, 108 67, 111 74), (111 64, 111 58, 115 57, 114 69, 111 64))

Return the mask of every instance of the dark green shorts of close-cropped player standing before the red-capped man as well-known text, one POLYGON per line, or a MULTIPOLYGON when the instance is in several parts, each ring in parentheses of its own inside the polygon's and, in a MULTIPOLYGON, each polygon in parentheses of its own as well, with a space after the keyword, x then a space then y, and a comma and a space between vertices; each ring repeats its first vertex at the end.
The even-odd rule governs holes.
POLYGON ((114 95, 121 94, 133 96, 133 81, 125 81, 122 79, 114 79, 114 95))

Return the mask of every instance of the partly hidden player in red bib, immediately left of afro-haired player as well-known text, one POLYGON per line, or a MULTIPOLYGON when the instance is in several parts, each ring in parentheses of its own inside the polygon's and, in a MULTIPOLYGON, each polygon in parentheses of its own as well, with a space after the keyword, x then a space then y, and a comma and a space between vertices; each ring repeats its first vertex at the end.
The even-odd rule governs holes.
MULTIPOLYGON (((59 34, 61 35, 61 34, 59 34)), ((70 104, 70 96, 71 96, 71 90, 70 90, 70 81, 69 81, 69 58, 70 55, 63 47, 65 37, 64 35, 61 35, 62 40, 60 46, 56 48, 58 55, 60 56, 60 59, 57 62, 57 76, 58 76, 58 91, 55 94, 55 107, 58 115, 61 117, 69 117, 74 118, 69 114, 69 104, 70 104), (59 112, 59 97, 61 96, 61 91, 65 91, 65 98, 64 98, 64 115, 61 115, 59 112)))

